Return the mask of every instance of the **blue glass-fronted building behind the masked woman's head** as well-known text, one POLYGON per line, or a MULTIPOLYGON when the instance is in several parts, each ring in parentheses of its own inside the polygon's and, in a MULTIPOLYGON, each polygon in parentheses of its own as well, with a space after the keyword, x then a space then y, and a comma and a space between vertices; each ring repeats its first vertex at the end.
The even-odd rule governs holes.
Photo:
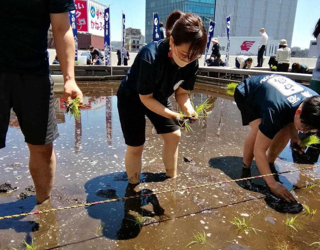
POLYGON ((216 0, 146 0, 146 43, 152 40, 153 12, 158 12, 160 22, 164 23, 174 10, 192 12, 204 20, 206 28, 209 18, 214 20, 216 0))

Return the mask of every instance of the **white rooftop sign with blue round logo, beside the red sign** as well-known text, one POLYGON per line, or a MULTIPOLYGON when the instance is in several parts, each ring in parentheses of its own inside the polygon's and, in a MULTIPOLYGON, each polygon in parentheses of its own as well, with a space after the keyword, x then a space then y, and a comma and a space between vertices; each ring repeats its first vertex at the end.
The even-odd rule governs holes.
POLYGON ((104 10, 106 6, 88 0, 88 32, 93 35, 104 36, 104 10))

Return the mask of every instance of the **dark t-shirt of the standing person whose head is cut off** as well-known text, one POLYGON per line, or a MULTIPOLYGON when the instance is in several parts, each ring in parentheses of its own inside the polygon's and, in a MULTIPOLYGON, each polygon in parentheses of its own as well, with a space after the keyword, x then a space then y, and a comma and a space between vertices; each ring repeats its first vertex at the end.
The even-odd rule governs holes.
POLYGON ((1 8, 0 71, 49 74, 49 14, 75 10, 74 1, 14 0, 1 8), (12 53, 15 60, 8 60, 12 53))

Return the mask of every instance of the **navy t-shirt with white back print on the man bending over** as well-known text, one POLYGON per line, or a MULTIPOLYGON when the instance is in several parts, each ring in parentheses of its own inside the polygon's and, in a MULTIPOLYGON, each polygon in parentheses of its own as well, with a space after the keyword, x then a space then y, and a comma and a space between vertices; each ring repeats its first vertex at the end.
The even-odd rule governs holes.
POLYGON ((278 74, 258 75, 244 80, 237 89, 262 117, 260 131, 273 139, 293 118, 302 101, 317 93, 278 74))

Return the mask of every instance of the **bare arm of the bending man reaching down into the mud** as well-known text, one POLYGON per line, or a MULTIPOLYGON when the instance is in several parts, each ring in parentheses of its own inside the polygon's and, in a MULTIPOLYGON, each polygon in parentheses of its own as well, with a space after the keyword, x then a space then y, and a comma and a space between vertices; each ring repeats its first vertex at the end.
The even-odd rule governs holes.
MULTIPOLYGON (((271 139, 262 134, 259 129, 254 144, 253 155, 261 175, 272 174, 266 153, 270 146, 270 143, 271 139)), ((295 200, 292 193, 290 193, 282 184, 276 182, 273 176, 265 176, 263 177, 263 179, 267 183, 271 192, 276 196, 281 196, 288 202, 295 200)))

